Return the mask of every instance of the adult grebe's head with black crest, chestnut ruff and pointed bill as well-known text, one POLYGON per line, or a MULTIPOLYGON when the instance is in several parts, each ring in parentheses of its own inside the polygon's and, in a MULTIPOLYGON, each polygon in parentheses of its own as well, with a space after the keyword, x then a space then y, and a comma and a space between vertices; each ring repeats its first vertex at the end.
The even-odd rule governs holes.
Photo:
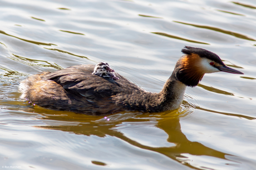
POLYGON ((218 55, 211 51, 185 46, 181 50, 184 55, 175 66, 176 78, 187 86, 198 85, 205 73, 223 71, 226 73, 243 74, 229 68, 221 61, 218 55))

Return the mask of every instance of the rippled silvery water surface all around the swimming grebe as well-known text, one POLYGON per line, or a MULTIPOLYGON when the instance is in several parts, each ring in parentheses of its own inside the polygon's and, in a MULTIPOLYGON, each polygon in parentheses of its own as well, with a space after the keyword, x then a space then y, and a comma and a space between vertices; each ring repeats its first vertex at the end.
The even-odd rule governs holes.
POLYGON ((256 2, 0 0, 0 168, 256 169, 256 2), (159 92, 185 46, 244 75, 187 87, 179 110, 87 116, 29 106, 40 71, 107 61, 159 92))

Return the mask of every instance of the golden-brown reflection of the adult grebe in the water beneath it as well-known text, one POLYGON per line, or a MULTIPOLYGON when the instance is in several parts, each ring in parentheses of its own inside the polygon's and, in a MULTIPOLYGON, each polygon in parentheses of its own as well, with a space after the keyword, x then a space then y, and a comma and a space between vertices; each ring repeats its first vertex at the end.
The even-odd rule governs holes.
MULTIPOLYGON (((38 128, 61 130, 72 132, 77 135, 86 136, 114 136, 130 143, 130 145, 164 154, 165 156, 168 156, 175 161, 182 162, 189 167, 192 166, 189 163, 183 161, 186 159, 184 154, 191 154, 195 156, 210 156, 220 159, 226 159, 225 156, 228 155, 226 153, 206 147, 199 142, 189 141, 188 138, 184 135, 184 133, 181 131, 180 118, 191 114, 194 111, 194 108, 191 107, 190 109, 188 109, 188 107, 183 107, 183 109, 179 109, 179 111, 166 111, 156 114, 142 114, 141 112, 121 112, 119 114, 114 114, 107 117, 88 116, 61 111, 51 112, 48 110, 47 114, 43 114, 43 112, 46 111, 45 109, 37 107, 35 109, 38 113, 42 112, 40 119, 46 124, 45 126, 37 126, 38 128), (132 125, 132 123, 139 123, 141 124, 141 127, 145 127, 145 129, 154 125, 154 127, 159 131, 163 131, 167 134, 165 142, 169 143, 170 145, 167 147, 166 145, 150 146, 146 145, 144 142, 140 142, 141 137, 138 137, 137 140, 136 137, 130 138, 129 134, 125 134, 125 129, 130 128, 132 130, 132 126, 128 126, 132 125), (120 126, 122 126, 122 128, 119 128, 120 126)), ((136 128, 133 130, 133 132, 129 132, 136 133, 136 128)), ((148 131, 146 135, 150 136, 150 131, 148 131)), ((151 137, 151 140, 155 140, 157 143, 157 138, 154 138, 154 136, 151 137)))

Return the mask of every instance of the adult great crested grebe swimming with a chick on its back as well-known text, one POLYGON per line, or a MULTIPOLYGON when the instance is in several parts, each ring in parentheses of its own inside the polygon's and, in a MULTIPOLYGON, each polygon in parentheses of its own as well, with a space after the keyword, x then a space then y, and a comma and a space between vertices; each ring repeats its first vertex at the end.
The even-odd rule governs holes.
POLYGON ((186 86, 198 85, 205 73, 243 74, 226 66, 218 55, 187 47, 159 93, 148 92, 115 73, 109 64, 75 65, 53 73, 29 76, 19 85, 21 99, 46 109, 87 115, 120 111, 161 112, 178 109, 186 86))

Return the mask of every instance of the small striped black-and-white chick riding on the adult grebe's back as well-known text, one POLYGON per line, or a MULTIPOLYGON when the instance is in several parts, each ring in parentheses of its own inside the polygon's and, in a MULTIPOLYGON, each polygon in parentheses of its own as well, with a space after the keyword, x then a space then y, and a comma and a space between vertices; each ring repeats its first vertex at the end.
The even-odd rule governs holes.
POLYGON ((100 76, 102 78, 110 78, 113 80, 118 80, 119 78, 115 76, 113 72, 115 72, 115 70, 111 69, 109 64, 105 63, 104 61, 101 61, 100 63, 95 65, 95 68, 92 74, 100 76))

